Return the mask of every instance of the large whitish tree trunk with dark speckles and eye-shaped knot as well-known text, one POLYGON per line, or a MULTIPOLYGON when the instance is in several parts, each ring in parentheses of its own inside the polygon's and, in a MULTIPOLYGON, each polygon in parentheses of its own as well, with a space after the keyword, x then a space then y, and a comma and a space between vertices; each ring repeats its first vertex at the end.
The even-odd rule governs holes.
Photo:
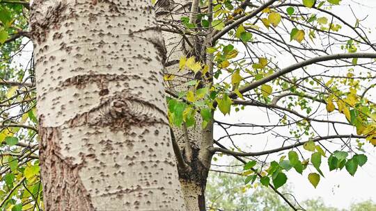
POLYGON ((150 0, 36 0, 45 210, 185 210, 150 0))

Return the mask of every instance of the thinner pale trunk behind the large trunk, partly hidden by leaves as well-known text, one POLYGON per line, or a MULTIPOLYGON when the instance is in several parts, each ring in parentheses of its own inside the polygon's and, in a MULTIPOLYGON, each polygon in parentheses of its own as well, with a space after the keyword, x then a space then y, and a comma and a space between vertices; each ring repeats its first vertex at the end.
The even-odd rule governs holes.
MULTIPOLYGON (((191 10, 197 10, 198 1, 192 0, 159 0, 157 2, 157 19, 163 23, 173 23, 174 26, 181 17, 195 17, 191 10), (192 3, 193 8, 192 8, 192 3)), ((169 27, 166 24, 166 27, 169 27)), ((171 27, 175 30, 175 27, 171 27)), ((180 26, 184 28, 184 26, 180 26)), ((166 74, 173 74, 175 78, 166 84, 166 89, 178 93, 188 91, 188 81, 200 80, 193 71, 187 69, 179 71, 179 61, 181 56, 187 58, 195 56, 196 60, 205 62, 202 55, 202 40, 198 36, 180 35, 179 33, 163 32, 166 43, 167 58, 165 62, 166 74)), ((203 129, 201 115, 196 115, 196 127, 194 128, 173 128, 175 140, 178 142, 180 151, 189 165, 189 169, 179 169, 179 178, 182 185, 182 192, 185 197, 185 204, 189 211, 205 210, 205 186, 207 174, 210 169, 212 153, 207 150, 213 145, 212 123, 207 124, 203 129)))

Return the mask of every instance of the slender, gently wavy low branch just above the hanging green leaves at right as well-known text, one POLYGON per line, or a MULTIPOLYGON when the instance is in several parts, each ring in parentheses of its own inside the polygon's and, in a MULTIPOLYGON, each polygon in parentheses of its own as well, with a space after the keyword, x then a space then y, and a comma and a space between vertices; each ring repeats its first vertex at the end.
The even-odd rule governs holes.
MULTIPOLYGON (((363 135, 329 135, 329 136, 324 136, 324 137, 317 137, 313 140, 308 140, 306 142, 309 142, 309 141, 312 141, 312 142, 320 142, 322 140, 330 140, 330 139, 340 139, 340 138, 366 138, 366 136, 363 136, 363 135)), ((236 151, 230 151, 228 149, 223 149, 223 148, 218 148, 218 147, 211 147, 209 150, 212 152, 212 153, 216 153, 216 152, 221 152, 221 153, 225 153, 225 154, 228 154, 228 155, 233 155, 233 156, 242 156, 242 157, 245 157, 245 156, 260 156, 260 155, 269 155, 269 154, 272 154, 272 153, 278 153, 280 151, 285 151, 285 150, 288 150, 288 149, 294 149, 296 148, 297 146, 302 146, 304 144, 306 144, 306 142, 298 142, 297 144, 292 144, 290 146, 282 146, 282 147, 279 147, 279 148, 276 148, 276 149, 270 149, 270 150, 266 150, 266 151, 260 151, 260 152, 250 152, 250 153, 242 153, 242 152, 236 152, 236 151)), ((215 142, 215 144, 217 144, 219 146, 219 143, 218 142, 215 142)))

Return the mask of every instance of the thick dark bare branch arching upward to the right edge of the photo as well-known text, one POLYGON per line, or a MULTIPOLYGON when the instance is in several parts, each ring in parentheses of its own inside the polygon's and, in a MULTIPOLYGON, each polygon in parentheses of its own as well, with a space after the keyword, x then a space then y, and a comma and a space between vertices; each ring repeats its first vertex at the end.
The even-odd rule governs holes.
MULTIPOLYGON (((284 69, 281 69, 280 71, 277 71, 274 74, 266 76, 265 78, 255 81, 249 85, 246 85, 245 87, 240 89, 239 92, 243 94, 244 92, 253 90, 256 87, 259 87, 260 85, 268 83, 269 81, 273 81, 274 79, 279 78, 280 76, 283 76, 284 74, 288 74, 291 71, 294 71, 301 67, 313 65, 318 62, 324 62, 328 60, 338 60, 338 59, 344 59, 344 58, 376 58, 376 53, 338 53, 338 54, 332 54, 332 55, 327 55, 327 56, 318 56, 315 58, 311 58, 311 59, 296 63, 289 67, 285 67, 284 69)), ((230 98, 232 99, 237 98, 237 94, 235 92, 231 92, 228 96, 230 96, 230 98)), ((217 105, 217 103, 214 102, 214 105, 217 105)))

